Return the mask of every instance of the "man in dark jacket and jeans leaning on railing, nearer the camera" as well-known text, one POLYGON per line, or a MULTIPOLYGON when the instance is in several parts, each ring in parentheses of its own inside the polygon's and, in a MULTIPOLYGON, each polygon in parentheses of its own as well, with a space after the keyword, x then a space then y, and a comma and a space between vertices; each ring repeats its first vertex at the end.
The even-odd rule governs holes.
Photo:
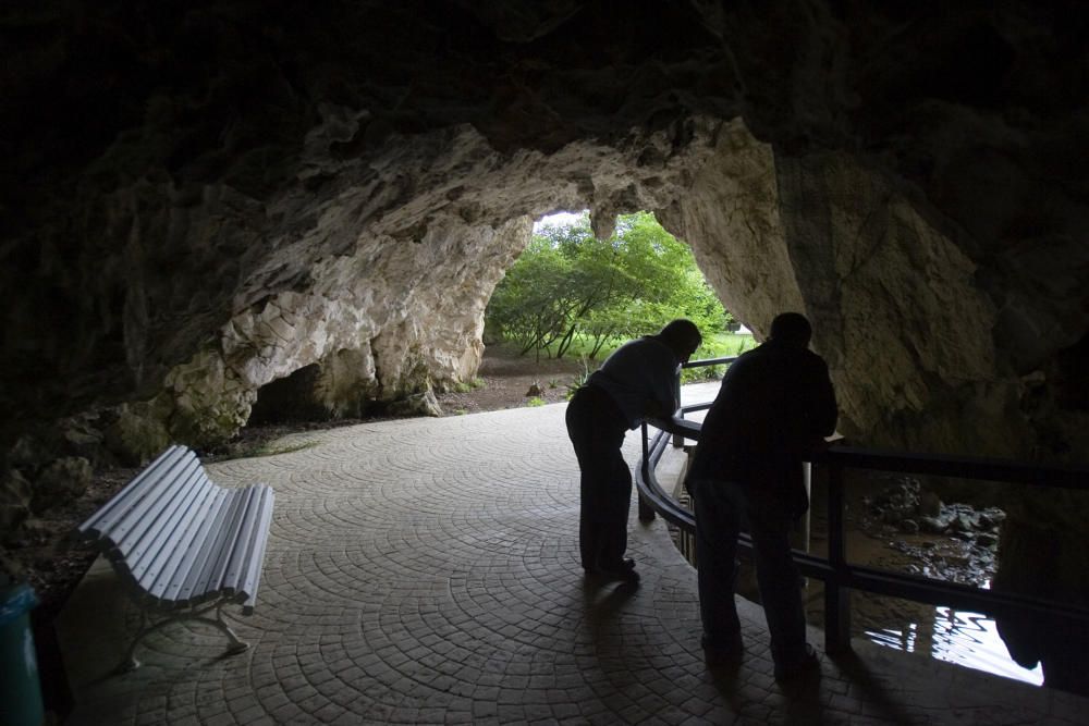
POLYGON ((823 445, 836 420, 828 366, 807 347, 811 334, 804 316, 784 312, 772 321, 766 343, 730 366, 685 482, 696 514, 705 659, 719 665, 742 654, 734 580, 737 532, 745 522, 781 680, 819 666, 806 642, 790 543, 794 521, 809 506, 803 457, 823 445))

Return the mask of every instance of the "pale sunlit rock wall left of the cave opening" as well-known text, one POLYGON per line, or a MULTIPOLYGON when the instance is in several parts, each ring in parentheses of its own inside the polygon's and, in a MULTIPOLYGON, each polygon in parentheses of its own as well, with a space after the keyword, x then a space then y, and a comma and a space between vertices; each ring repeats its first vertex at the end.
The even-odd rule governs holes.
POLYGON ((431 227, 419 242, 379 235, 315 264, 309 291, 240 311, 212 346, 167 374, 171 433, 197 445, 230 438, 261 386, 311 365, 309 397, 328 417, 467 380, 482 354, 487 299, 528 238, 526 218, 498 230, 431 227))

